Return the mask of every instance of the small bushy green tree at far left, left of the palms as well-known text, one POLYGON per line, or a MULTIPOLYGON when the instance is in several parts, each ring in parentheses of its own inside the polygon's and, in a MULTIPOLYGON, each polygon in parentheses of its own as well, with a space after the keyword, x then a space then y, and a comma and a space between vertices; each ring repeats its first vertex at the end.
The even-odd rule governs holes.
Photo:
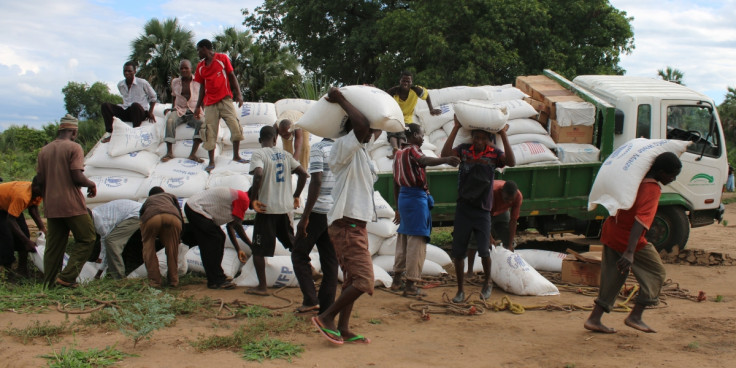
POLYGON ((95 82, 91 86, 87 83, 69 82, 61 89, 61 93, 64 94, 66 111, 82 120, 100 122, 100 105, 103 102, 123 102, 120 96, 110 93, 110 88, 102 82, 95 82))

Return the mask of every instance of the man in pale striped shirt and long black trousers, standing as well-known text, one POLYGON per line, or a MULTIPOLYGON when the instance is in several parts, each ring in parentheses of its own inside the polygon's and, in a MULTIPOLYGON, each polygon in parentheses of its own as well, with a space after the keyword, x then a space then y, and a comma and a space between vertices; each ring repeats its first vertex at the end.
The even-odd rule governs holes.
POLYGON ((335 176, 327 161, 335 141, 324 138, 312 145, 309 153, 309 193, 304 213, 296 227, 296 244, 291 252, 294 276, 302 290, 302 305, 297 313, 324 312, 335 302, 337 289, 337 256, 327 233, 327 213, 332 209, 332 187, 335 176), (319 295, 312 280, 312 267, 309 253, 317 245, 319 264, 322 268, 322 282, 319 295))

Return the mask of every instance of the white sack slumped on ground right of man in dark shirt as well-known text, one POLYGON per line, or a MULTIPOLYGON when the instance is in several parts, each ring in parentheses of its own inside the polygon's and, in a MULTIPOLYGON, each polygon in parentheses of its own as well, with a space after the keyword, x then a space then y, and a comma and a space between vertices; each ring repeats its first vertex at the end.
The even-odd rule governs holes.
POLYGON ((491 278, 507 293, 515 295, 559 295, 557 287, 530 267, 524 259, 502 247, 491 247, 491 278))

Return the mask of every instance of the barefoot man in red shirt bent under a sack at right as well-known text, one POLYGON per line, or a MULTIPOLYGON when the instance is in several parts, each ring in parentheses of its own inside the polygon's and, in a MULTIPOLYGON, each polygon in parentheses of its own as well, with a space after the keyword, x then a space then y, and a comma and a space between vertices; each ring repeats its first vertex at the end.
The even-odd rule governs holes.
POLYGON ((681 169, 682 163, 674 153, 666 152, 657 156, 639 185, 634 205, 630 209, 618 211, 603 223, 601 242, 605 247, 601 261, 601 286, 593 312, 585 321, 586 329, 603 333, 616 332, 601 323, 601 316, 603 312, 611 311, 631 270, 640 288, 636 305, 624 323, 640 331, 656 332, 642 321, 641 315, 647 306, 659 303, 665 269, 654 245, 647 242, 644 236, 657 213, 662 194, 660 184, 673 182, 681 169))

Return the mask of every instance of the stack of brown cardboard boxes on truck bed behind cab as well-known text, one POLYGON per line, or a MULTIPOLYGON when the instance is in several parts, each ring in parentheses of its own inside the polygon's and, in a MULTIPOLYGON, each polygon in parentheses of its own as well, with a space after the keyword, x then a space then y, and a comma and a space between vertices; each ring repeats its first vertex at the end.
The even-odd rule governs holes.
POLYGON ((580 97, 544 75, 516 78, 516 88, 529 95, 524 100, 539 112, 537 120, 556 143, 593 143, 593 126, 562 126, 557 121, 558 102, 584 102, 580 97))

